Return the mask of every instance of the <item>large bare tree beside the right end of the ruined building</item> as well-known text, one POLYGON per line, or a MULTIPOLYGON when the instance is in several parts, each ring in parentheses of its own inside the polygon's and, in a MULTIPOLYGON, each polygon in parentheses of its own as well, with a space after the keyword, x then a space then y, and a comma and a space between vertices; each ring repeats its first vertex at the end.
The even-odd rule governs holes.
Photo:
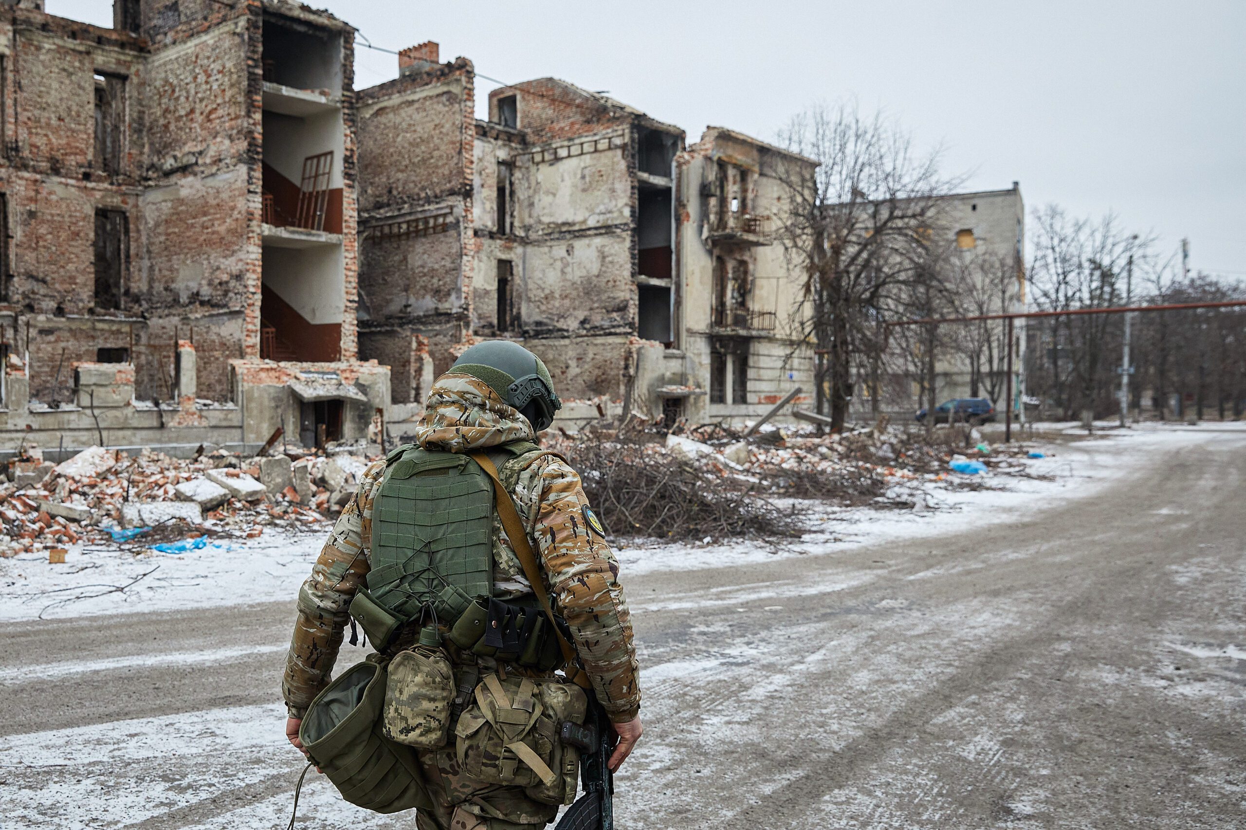
POLYGON ((887 343, 883 323, 931 278, 926 260, 937 198, 958 181, 939 174, 937 151, 915 150, 897 123, 881 113, 863 116, 855 105, 796 116, 780 143, 817 162, 816 168, 779 162, 774 172, 786 193, 776 221, 789 257, 805 274, 791 319, 819 355, 817 409, 824 411, 827 389, 831 429, 841 429, 854 373, 877 380, 887 343))

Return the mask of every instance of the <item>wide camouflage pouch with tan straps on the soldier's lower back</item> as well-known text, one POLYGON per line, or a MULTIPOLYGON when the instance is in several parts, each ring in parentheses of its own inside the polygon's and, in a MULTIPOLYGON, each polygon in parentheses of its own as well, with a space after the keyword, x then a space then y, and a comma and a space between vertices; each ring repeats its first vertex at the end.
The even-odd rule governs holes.
POLYGON ((543 804, 574 800, 579 753, 558 735, 562 723, 583 723, 587 698, 568 683, 487 674, 459 717, 459 768, 485 784, 522 786, 543 804))

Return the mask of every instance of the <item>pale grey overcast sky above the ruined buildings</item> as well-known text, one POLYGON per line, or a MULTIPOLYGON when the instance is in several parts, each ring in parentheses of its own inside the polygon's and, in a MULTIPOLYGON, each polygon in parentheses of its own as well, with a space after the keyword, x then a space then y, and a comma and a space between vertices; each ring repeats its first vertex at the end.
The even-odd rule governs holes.
MULTIPOLYGON (((1028 208, 1115 211, 1190 238, 1191 269, 1246 278, 1246 2, 422 2, 313 0, 376 46, 441 44, 508 82, 608 90, 695 141, 773 140, 812 102, 883 108, 944 146, 968 189, 1020 182, 1028 208)), ((107 0, 47 10, 111 25, 107 0)), ((358 88, 397 75, 356 49, 358 88)), ((492 83, 480 81, 483 103, 492 83)))

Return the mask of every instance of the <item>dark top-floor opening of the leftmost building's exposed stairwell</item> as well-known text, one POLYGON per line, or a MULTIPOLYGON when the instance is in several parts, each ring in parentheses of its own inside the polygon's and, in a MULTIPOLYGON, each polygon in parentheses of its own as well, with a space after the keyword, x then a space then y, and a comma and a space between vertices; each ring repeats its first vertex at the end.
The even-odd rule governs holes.
POLYGON ((341 35, 264 15, 264 80, 331 97, 341 95, 341 35))

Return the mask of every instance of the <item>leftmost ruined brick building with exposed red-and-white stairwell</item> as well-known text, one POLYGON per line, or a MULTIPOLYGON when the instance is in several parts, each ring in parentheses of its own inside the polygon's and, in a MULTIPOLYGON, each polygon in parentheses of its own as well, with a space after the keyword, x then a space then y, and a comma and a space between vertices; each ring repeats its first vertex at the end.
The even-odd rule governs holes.
POLYGON ((363 435, 353 30, 284 0, 0 6, 0 440, 363 435))

